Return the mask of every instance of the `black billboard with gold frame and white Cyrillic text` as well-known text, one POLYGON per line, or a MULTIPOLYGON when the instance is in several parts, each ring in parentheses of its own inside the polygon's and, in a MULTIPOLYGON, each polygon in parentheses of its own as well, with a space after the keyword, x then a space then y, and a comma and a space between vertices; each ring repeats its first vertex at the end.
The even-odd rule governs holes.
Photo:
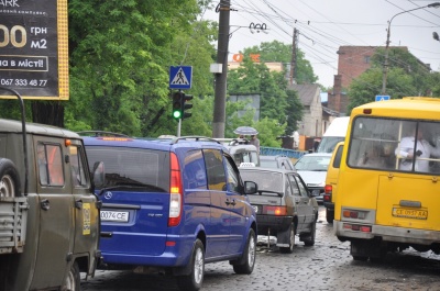
MULTIPOLYGON (((67 0, 0 1, 0 87, 68 100, 67 0)), ((0 99, 15 99, 0 90, 0 99)))

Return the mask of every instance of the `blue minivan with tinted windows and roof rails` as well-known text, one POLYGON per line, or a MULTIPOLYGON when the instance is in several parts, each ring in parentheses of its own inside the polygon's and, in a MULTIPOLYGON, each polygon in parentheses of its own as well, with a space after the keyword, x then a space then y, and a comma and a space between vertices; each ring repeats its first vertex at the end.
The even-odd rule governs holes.
POLYGON ((182 290, 201 288, 207 262, 253 271, 256 216, 246 194, 257 186, 241 180, 224 146, 207 137, 82 138, 90 168, 105 165, 96 193, 106 268, 172 273, 182 290))

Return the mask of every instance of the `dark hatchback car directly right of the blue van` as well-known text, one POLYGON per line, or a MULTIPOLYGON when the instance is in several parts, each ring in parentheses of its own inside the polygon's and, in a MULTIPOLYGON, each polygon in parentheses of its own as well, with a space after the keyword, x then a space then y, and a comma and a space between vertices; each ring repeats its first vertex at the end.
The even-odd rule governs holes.
POLYGON ((258 184, 257 193, 248 195, 256 212, 258 240, 265 237, 276 242, 282 253, 294 250, 296 235, 306 246, 312 246, 318 209, 299 175, 285 169, 239 169, 243 180, 258 184))

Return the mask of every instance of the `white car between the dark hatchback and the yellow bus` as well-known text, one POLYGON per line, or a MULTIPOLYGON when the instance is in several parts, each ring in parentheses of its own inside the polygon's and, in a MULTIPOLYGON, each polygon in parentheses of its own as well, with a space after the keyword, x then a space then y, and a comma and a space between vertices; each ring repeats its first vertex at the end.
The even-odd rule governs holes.
POLYGON ((323 204, 326 176, 330 159, 331 154, 312 153, 304 155, 295 163, 296 171, 301 176, 319 204, 323 204))

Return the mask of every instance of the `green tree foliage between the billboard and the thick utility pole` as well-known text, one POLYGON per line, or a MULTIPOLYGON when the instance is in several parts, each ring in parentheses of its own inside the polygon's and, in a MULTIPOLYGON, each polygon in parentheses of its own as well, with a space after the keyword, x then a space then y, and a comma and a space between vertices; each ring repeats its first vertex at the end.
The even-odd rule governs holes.
MULTIPOLYGON (((175 133, 169 66, 194 66, 193 88, 197 89, 188 93, 212 92, 207 64, 215 54, 210 41, 216 24, 196 20, 206 2, 69 1, 66 126, 142 136, 175 133)), ((193 111, 198 110, 198 101, 195 98, 193 111)), ((188 121, 198 123, 198 115, 188 121)), ((191 131, 186 120, 183 124, 183 132, 191 131)))

